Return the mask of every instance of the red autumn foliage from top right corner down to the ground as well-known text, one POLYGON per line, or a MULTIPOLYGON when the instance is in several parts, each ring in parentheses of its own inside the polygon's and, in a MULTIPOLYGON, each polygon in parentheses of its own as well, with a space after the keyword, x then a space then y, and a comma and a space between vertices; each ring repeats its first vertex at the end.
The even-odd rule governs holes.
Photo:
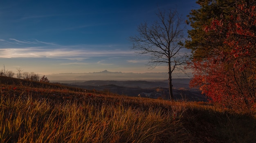
POLYGON ((200 87, 212 102, 240 110, 256 104, 256 2, 240 1, 230 17, 214 18, 204 25, 205 32, 216 32, 219 37, 208 37, 221 43, 213 47, 204 59, 194 59, 189 67, 194 70, 192 87, 200 87))

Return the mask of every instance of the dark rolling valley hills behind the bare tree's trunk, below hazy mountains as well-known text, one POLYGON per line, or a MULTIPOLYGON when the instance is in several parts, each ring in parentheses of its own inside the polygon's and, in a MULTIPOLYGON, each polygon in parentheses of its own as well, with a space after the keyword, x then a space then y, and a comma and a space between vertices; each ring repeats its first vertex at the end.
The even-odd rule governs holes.
MULTIPOLYGON (((189 78, 173 79, 173 94, 175 100, 187 101, 207 101, 207 98, 201 94, 199 89, 189 88, 189 78)), ((85 89, 95 89, 108 93, 119 95, 138 96, 144 98, 162 98, 168 99, 169 89, 168 80, 162 81, 144 81, 144 80, 89 80, 85 82, 73 82, 70 86, 85 89)))

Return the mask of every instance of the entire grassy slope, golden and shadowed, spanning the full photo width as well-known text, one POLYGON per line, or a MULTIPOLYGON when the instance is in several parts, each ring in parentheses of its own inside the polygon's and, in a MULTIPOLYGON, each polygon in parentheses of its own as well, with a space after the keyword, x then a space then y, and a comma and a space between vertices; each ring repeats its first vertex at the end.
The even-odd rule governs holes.
POLYGON ((0 142, 253 143, 256 119, 205 102, 0 77, 0 142))

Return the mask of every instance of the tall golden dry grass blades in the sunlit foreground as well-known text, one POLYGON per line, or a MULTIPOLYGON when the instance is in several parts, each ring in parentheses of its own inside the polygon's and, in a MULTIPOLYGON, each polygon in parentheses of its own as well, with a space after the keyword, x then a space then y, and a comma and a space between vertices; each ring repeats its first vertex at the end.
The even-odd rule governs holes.
MULTIPOLYGON (((102 97, 84 101, 57 102, 33 95, 1 97, 1 142, 146 143, 189 141, 174 111, 125 99, 102 97), (106 101, 110 100, 113 101, 106 101), (128 104, 131 106, 127 106, 128 104), (170 118, 171 117, 171 118, 170 118)), ((156 103, 157 104, 157 103, 156 103)))

